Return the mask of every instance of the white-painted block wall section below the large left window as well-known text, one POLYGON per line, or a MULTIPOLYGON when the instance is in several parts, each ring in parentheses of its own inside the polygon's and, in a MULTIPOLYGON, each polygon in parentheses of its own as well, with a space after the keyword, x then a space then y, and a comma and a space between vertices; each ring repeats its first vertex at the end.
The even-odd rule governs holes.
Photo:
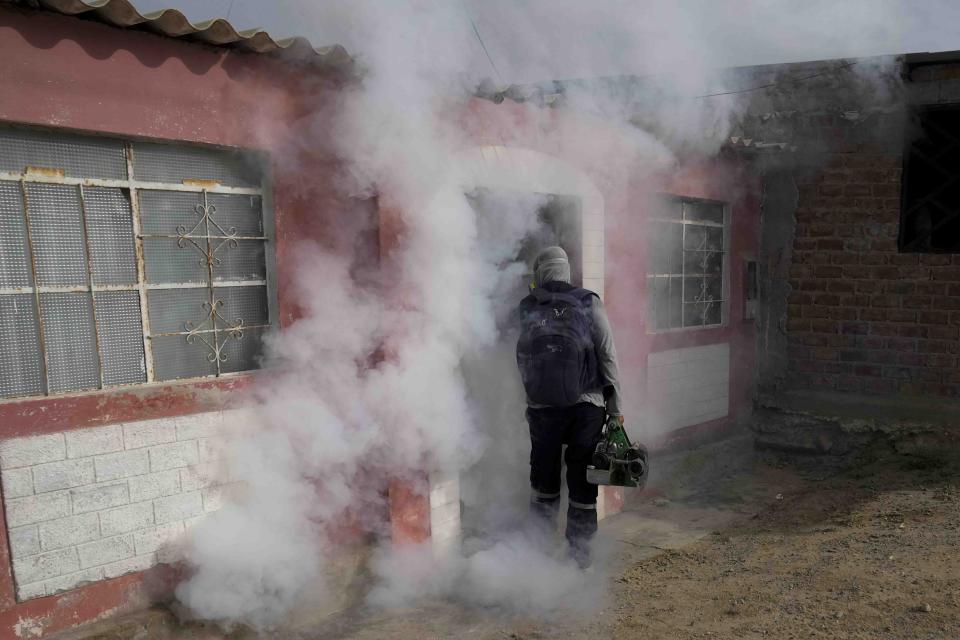
POLYGON ((0 442, 17 598, 142 571, 221 504, 222 412, 0 442))

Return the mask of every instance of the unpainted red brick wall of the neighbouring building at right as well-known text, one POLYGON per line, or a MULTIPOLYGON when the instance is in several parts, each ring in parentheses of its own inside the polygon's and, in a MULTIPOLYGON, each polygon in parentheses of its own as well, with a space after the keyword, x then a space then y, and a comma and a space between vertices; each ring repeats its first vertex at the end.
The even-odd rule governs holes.
POLYGON ((897 251, 901 162, 854 149, 798 181, 791 387, 960 395, 960 255, 897 251))

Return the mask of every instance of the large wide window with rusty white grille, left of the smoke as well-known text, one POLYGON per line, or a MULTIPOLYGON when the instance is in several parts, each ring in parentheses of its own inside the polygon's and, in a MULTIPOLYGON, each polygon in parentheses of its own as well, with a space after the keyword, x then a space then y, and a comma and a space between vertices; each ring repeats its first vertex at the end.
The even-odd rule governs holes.
POLYGON ((255 368, 275 307, 260 166, 0 128, 0 398, 255 368))

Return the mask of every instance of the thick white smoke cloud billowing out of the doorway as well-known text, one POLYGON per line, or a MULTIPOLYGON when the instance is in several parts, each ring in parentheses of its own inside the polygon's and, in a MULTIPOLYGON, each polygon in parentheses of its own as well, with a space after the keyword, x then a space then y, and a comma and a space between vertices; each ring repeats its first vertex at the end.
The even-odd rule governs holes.
MULTIPOLYGON (((527 71, 543 79, 554 52, 538 48, 541 30, 569 30, 584 77, 602 75, 594 70, 608 69, 614 54, 652 57, 667 72, 648 85, 644 102, 585 84, 561 109, 527 109, 536 126, 528 123, 524 135, 539 130, 543 148, 575 152, 614 198, 616 185, 670 167, 676 146, 715 150, 743 108, 735 99, 690 99, 710 86, 717 59, 703 16, 672 3, 653 3, 652 13, 630 9, 635 4, 556 2, 531 22, 498 2, 493 23, 499 37, 522 40, 527 71), (613 34, 612 50, 591 58, 580 38, 605 7, 631 19, 613 34), (638 109, 655 131, 634 125, 638 109), (605 135, 591 125, 601 122, 605 135)), ((247 417, 231 425, 229 473, 242 483, 192 531, 184 551, 190 575, 177 596, 200 618, 275 626, 305 593, 317 597, 337 544, 332 530, 349 520, 358 531, 385 533, 383 481, 426 470, 472 478, 463 500, 476 531, 467 532, 464 553, 382 546, 371 602, 453 597, 536 612, 596 601, 602 580, 585 581, 550 545, 503 533, 520 528, 527 500, 522 397, 503 320, 517 301, 526 265, 515 258, 537 230, 543 195, 531 188, 482 215, 468 201, 487 185, 459 161, 475 144, 461 116, 477 65, 489 63, 466 5, 325 5, 300 10, 358 43, 365 71, 337 97, 332 121, 325 111, 307 131, 343 159, 343 194, 377 194, 402 232, 372 278, 356 277, 355 256, 307 241, 296 247, 290 293, 302 317, 268 341, 270 373, 251 392, 247 417), (585 589, 594 597, 583 598, 585 589)), ((484 15, 489 22, 490 11, 484 15)), ((481 133, 509 137, 514 125, 505 116, 481 133)), ((524 168, 514 170, 522 181, 524 168)), ((615 331, 624 336, 626 328, 615 331)))

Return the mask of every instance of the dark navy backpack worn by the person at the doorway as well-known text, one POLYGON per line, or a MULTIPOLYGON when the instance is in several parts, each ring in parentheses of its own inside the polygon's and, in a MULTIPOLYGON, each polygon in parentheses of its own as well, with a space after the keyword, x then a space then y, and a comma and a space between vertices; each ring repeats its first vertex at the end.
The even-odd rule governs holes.
POLYGON ((531 403, 569 407, 599 386, 591 331, 595 295, 573 287, 557 292, 538 287, 520 304, 517 366, 531 403))

